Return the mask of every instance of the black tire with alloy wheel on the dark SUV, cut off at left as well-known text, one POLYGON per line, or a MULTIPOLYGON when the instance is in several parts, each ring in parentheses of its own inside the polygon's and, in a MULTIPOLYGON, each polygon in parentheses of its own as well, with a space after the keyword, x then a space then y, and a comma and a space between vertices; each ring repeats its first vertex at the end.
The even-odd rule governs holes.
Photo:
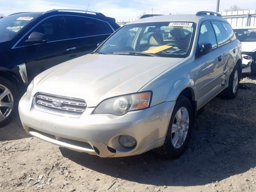
POLYGON ((16 86, 0 77, 0 128, 8 124, 16 115, 18 92, 16 86))

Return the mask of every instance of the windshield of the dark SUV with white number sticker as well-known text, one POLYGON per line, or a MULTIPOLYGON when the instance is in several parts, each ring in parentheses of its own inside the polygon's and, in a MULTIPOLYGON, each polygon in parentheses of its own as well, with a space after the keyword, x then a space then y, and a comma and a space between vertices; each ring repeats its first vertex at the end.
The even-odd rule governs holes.
POLYGON ((11 40, 33 17, 10 16, 0 19, 0 42, 11 40))

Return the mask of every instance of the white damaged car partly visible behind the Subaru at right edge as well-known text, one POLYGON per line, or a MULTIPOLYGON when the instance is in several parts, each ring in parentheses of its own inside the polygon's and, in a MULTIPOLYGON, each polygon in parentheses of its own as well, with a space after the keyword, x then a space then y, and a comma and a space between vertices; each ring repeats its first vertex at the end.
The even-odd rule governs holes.
POLYGON ((236 27, 234 32, 242 42, 242 73, 256 72, 256 26, 236 27))

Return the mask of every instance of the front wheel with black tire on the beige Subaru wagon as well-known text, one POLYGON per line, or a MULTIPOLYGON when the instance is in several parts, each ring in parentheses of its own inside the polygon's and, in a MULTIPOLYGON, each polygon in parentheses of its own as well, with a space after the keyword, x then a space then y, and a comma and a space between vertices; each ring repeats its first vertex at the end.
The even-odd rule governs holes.
POLYGON ((179 96, 172 111, 164 145, 156 148, 161 156, 175 159, 181 156, 188 146, 193 126, 193 109, 190 100, 179 96))

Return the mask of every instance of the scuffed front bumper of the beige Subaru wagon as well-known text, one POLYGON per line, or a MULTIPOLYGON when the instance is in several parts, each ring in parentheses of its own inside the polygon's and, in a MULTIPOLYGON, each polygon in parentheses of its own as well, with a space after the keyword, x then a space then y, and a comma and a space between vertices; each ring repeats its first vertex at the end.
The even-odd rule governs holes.
POLYGON ((164 144, 175 102, 164 102, 123 116, 92 114, 87 108, 80 118, 49 114, 34 108, 26 94, 19 103, 22 125, 28 134, 52 144, 98 155, 121 157, 141 154, 164 144), (134 148, 124 148, 120 135, 134 137, 134 148))

